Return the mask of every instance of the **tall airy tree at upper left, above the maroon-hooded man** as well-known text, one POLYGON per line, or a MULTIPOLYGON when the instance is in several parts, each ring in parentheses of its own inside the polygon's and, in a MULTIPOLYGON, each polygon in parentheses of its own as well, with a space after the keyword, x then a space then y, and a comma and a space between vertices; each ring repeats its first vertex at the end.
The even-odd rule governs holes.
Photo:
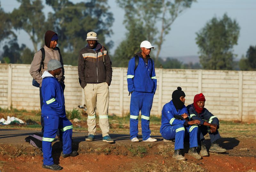
POLYGON ((51 23, 45 21, 42 11, 44 8, 41 0, 17 0, 20 4, 18 9, 11 13, 12 25, 16 30, 24 30, 28 33, 33 43, 34 51, 37 52, 38 44, 44 44, 44 33, 51 28, 51 23))

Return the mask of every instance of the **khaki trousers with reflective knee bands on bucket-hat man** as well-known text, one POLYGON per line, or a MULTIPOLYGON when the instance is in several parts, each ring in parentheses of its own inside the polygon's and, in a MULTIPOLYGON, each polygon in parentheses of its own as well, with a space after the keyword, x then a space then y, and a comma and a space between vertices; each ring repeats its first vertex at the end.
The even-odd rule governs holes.
POLYGON ((87 125, 89 134, 96 133, 96 110, 99 115, 102 137, 109 135, 108 103, 109 90, 107 82, 87 83, 84 87, 85 104, 87 107, 87 125))

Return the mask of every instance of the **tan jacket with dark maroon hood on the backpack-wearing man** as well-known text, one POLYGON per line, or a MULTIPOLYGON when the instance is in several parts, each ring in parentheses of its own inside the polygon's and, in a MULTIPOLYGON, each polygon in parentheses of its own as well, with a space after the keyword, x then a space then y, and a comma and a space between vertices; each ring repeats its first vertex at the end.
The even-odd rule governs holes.
POLYGON ((42 75, 43 75, 44 71, 47 70, 48 62, 52 59, 56 59, 56 60, 60 61, 60 63, 62 64, 62 71, 61 71, 60 75, 56 75, 56 78, 58 78, 59 82, 64 82, 65 77, 64 77, 63 61, 62 61, 62 58, 60 58, 59 51, 57 48, 54 48, 54 49, 49 48, 52 36, 54 34, 57 34, 57 33, 52 32, 52 31, 47 31, 44 36, 44 42, 45 42, 44 69, 42 67, 41 71, 39 72, 40 63, 42 60, 41 50, 39 50, 35 53, 33 61, 31 62, 31 66, 30 66, 30 70, 29 70, 30 75, 36 80, 36 82, 38 82, 40 84, 40 87, 42 84, 42 75))

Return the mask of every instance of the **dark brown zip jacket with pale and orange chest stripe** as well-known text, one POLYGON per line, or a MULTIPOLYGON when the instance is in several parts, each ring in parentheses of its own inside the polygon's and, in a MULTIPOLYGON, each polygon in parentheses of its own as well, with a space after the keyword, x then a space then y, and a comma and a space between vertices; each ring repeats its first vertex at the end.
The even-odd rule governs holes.
POLYGON ((97 43, 95 51, 88 45, 80 50, 78 57, 78 76, 82 88, 87 83, 107 82, 108 86, 112 80, 112 67, 107 49, 104 47, 105 65, 100 49, 102 46, 97 43))

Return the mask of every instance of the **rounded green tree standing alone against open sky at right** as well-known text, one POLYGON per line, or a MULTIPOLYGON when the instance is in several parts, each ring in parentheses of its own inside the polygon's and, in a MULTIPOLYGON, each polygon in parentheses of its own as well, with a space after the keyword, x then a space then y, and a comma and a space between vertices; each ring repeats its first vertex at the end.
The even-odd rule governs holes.
POLYGON ((232 70, 233 46, 237 45, 240 27, 227 14, 221 19, 213 17, 196 33, 199 59, 204 69, 232 70))

